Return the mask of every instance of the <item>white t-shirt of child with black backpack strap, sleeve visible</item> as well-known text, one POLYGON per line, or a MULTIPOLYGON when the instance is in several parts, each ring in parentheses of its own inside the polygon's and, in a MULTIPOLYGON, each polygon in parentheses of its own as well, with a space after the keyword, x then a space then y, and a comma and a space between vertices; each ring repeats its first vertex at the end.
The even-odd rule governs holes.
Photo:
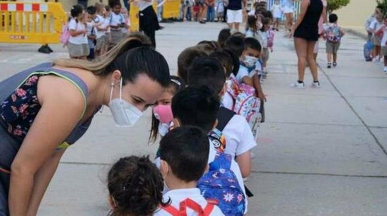
POLYGON ((222 133, 227 143, 224 153, 233 156, 233 158, 257 146, 250 126, 245 117, 241 115, 234 115, 222 133))

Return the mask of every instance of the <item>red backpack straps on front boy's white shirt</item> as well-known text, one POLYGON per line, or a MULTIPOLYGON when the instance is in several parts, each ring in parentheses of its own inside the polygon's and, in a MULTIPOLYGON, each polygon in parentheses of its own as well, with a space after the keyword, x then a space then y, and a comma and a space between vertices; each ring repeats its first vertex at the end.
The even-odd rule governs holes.
POLYGON ((187 216, 187 207, 199 213, 199 216, 209 216, 214 209, 214 204, 209 202, 203 209, 197 202, 187 198, 180 202, 179 209, 176 209, 172 205, 161 206, 160 208, 164 209, 164 211, 170 213, 172 216, 187 216))

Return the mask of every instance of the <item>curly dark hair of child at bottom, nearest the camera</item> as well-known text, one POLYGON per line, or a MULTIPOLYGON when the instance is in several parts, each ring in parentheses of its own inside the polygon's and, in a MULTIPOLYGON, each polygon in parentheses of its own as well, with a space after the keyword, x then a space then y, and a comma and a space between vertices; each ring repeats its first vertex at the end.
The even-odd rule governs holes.
POLYGON ((164 180, 149 156, 120 158, 108 173, 108 190, 115 202, 113 215, 148 216, 163 202, 164 180))

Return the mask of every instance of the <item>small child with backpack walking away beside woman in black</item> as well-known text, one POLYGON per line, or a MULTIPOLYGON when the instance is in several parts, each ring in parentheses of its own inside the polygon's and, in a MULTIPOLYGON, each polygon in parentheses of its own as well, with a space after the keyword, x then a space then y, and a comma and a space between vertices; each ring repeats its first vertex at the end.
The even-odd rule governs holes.
POLYGON ((333 56, 333 66, 337 66, 337 51, 340 47, 341 37, 344 36, 344 31, 341 27, 337 25, 337 15, 329 15, 329 24, 325 27, 325 39, 326 49, 327 49, 327 68, 332 67, 332 56, 333 56))

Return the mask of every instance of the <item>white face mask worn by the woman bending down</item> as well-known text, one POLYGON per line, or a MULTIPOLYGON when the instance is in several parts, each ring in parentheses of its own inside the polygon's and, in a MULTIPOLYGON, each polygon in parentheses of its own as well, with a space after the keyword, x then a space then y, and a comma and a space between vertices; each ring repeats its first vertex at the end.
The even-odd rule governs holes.
POLYGON ((133 104, 122 99, 122 78, 120 82, 120 97, 112 99, 114 85, 111 85, 109 108, 116 126, 131 127, 141 117, 142 112, 133 104))

